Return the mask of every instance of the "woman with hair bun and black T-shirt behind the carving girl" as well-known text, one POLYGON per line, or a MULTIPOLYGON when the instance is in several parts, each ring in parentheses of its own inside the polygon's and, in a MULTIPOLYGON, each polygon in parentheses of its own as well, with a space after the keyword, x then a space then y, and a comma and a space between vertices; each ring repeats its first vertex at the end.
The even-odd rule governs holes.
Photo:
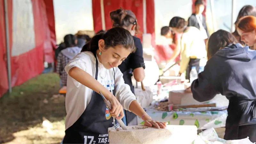
MULTIPOLYGON (((134 88, 132 85, 132 75, 137 82, 142 82, 145 78, 145 63, 143 59, 142 44, 138 37, 135 37, 139 31, 138 23, 135 14, 130 10, 124 10, 122 8, 110 12, 110 19, 113 22, 113 27, 122 27, 127 29, 133 37, 136 51, 131 53, 118 68, 123 73, 124 83, 130 85, 132 93, 134 88)), ((129 111, 125 111, 125 118, 123 121, 127 122, 127 125, 137 125, 137 116, 129 111)))

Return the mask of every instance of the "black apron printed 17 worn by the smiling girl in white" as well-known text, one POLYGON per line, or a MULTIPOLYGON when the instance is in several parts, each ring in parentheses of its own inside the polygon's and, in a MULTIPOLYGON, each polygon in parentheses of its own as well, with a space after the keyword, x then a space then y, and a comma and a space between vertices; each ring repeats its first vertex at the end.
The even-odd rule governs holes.
MULTIPOLYGON (((96 58, 96 54, 94 54, 96 58)), ((114 68, 113 68, 114 69, 114 68)), ((96 58, 95 79, 98 78, 98 60, 96 58)), ((115 71, 114 71, 115 81, 115 71)), ((113 90, 113 95, 116 91, 113 90)), ((117 121, 116 121, 117 123, 117 121)), ((83 114, 66 131, 63 144, 108 144, 108 128, 112 127, 113 117, 97 92, 92 92, 92 99, 83 114)))

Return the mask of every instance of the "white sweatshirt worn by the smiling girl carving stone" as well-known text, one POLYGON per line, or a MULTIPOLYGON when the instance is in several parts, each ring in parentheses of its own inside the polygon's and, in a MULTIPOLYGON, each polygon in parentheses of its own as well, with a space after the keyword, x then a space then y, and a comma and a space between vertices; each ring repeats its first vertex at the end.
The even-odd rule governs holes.
MULTIPOLYGON (((98 58, 97 58, 98 59, 98 58)), ((103 65, 99 63, 98 68, 98 82, 105 86, 110 91, 110 86, 112 85, 112 90, 116 90, 116 99, 121 103, 125 110, 129 110, 129 106, 133 100, 136 100, 134 94, 132 93, 130 86, 124 84, 123 74, 119 68, 115 69, 115 82, 114 82, 114 70, 106 69, 103 65), (101 76, 104 79, 101 79, 101 76)), ((65 71, 68 71, 73 67, 78 67, 86 71, 92 77, 95 78, 96 72, 96 58, 92 52, 81 52, 76 55, 70 62, 66 65, 65 71)), ((80 84, 72 77, 68 76, 67 80, 67 93, 66 93, 66 122, 65 127, 68 129, 73 125, 76 120, 83 114, 86 106, 89 104, 92 98, 92 89, 80 84)))

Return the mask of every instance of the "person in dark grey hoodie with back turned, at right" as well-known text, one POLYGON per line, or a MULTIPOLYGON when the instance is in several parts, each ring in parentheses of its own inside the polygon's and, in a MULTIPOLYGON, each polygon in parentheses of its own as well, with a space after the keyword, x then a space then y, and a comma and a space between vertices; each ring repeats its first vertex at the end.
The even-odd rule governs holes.
POLYGON ((191 84, 195 100, 222 94, 229 100, 225 140, 249 137, 256 142, 256 51, 237 43, 225 30, 210 36, 208 62, 191 84))

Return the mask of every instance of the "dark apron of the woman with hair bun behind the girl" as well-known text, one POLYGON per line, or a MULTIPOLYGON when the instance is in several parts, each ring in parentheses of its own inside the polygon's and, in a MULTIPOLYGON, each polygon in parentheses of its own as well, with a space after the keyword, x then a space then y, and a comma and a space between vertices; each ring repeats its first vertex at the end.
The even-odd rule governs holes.
MULTIPOLYGON (((123 73, 124 83, 128 84, 134 94, 132 85, 132 69, 128 69, 123 73)), ((138 125, 137 116, 128 110, 124 110, 127 125, 138 125)))

